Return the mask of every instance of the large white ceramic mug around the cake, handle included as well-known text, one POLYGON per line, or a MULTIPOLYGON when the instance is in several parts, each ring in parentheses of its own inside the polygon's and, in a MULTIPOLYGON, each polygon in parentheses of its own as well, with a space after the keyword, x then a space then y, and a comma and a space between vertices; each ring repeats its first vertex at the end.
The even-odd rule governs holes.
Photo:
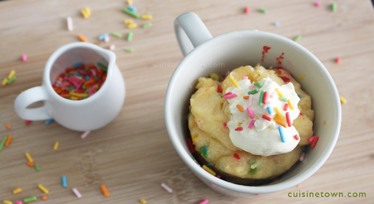
POLYGON ((328 159, 339 136, 341 105, 337 88, 324 65, 300 44, 263 31, 236 31, 212 37, 195 13, 178 16, 175 32, 184 59, 174 71, 165 96, 165 123, 170 139, 192 172, 210 188, 231 196, 247 196, 281 191, 300 184, 312 176, 328 159), (263 47, 271 49, 262 55, 263 47), (315 111, 314 134, 319 135, 315 148, 307 147, 303 162, 294 165, 279 181, 263 186, 242 186, 212 176, 195 161, 186 139, 186 110, 199 77, 225 73, 244 65, 279 66, 289 70, 302 89, 312 98, 315 111), (263 57, 263 61, 261 61, 263 57), (278 58, 279 59, 279 58, 278 58), (303 80, 298 76, 302 75, 303 80), (324 124, 326 121, 326 124, 324 124))

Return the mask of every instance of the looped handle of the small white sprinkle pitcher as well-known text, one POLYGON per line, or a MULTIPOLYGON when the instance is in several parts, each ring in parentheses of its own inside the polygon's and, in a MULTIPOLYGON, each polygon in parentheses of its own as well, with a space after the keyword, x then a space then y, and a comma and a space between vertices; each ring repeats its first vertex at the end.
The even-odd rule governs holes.
POLYGON ((48 100, 48 95, 42 86, 28 89, 15 98, 14 109, 17 115, 25 120, 46 120, 51 118, 45 105, 35 108, 26 108, 30 104, 48 100))

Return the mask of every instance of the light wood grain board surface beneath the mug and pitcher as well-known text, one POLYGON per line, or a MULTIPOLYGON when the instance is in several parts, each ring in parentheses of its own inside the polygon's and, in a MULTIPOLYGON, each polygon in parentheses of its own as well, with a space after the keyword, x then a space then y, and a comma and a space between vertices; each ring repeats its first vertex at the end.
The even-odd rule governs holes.
POLYGON ((105 32, 129 29, 123 20, 131 18, 121 10, 125 0, 5 0, 0 1, 0 79, 16 70, 17 80, 0 87, 0 137, 12 135, 0 151, 0 201, 36 196, 33 204, 213 204, 245 203, 373 203, 374 202, 374 11, 370 0, 133 0, 139 13, 152 20, 135 19, 132 42, 111 37, 116 45, 117 64, 125 78, 124 107, 109 125, 80 139, 81 132, 56 122, 33 121, 25 125, 14 112, 13 102, 23 90, 39 86, 48 57, 58 47, 78 41, 81 33, 89 42, 98 42, 105 32), (244 6, 250 13, 244 14, 244 6), (91 8, 84 19, 80 9, 91 8), (267 13, 257 11, 264 7, 267 13), (164 122, 164 96, 168 81, 182 60, 174 35, 173 21, 193 11, 213 36, 235 30, 258 29, 293 39, 314 53, 327 67, 338 90, 347 99, 342 106, 342 129, 327 162, 312 177, 277 193, 232 198, 212 191, 200 182, 180 159, 169 140, 164 122), (74 30, 66 28, 71 16, 74 30), (153 27, 141 25, 152 22, 153 27), (280 25, 274 26, 278 21, 280 25), (127 53, 125 48, 134 48, 127 53), (21 54, 28 60, 22 62, 21 54), (336 57, 340 64, 335 63, 336 57), (11 124, 11 129, 5 128, 11 124), (53 144, 59 141, 57 151, 53 144), (29 152, 40 171, 26 165, 29 152), (61 176, 68 187, 61 186, 61 176), (161 183, 174 191, 169 194, 161 183), (42 184, 50 193, 41 201, 42 184), (110 197, 100 191, 105 184, 110 197), (13 195, 12 190, 22 188, 13 195), (77 188, 82 198, 71 192, 77 188), (289 192, 364 192, 366 198, 289 198, 289 192))

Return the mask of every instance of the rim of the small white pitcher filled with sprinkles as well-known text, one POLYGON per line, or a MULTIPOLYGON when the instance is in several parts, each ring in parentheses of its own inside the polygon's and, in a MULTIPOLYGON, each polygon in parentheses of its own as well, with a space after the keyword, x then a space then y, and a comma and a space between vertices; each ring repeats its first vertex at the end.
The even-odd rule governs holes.
POLYGON ((101 95, 102 92, 100 92, 102 89, 105 89, 107 86, 108 83, 105 83, 106 80, 108 78, 110 78, 110 76, 112 75, 112 69, 108 69, 108 72, 107 72, 107 79, 105 79, 105 82, 103 83, 103 85, 101 86, 101 88, 95 93, 93 94, 91 97, 88 97, 84 100, 68 100, 68 99, 65 99, 63 97, 61 97, 60 95, 58 95, 52 88, 52 84, 51 84, 51 81, 50 81, 50 71, 51 71, 51 68, 52 68, 52 65, 53 63, 61 56, 61 54, 65 53, 66 51, 70 50, 70 49, 79 49, 79 48, 88 48, 88 49, 91 49, 95 52, 98 52, 99 54, 101 55, 107 55, 108 56, 108 68, 109 67, 113 67, 115 65, 115 61, 116 61, 116 55, 114 54, 114 52, 110 51, 110 50, 106 50, 104 48, 101 48, 95 44, 92 44, 92 43, 87 43, 87 42, 73 42, 73 43, 69 43, 69 44, 66 44, 66 45, 63 45, 62 47, 59 47, 57 50, 55 50, 52 55, 48 58, 47 60, 47 63, 45 64, 45 67, 44 67, 44 73, 43 73, 43 87, 45 87, 45 89, 47 90, 47 92, 49 93, 52 93, 51 96, 54 97, 54 99, 56 99, 57 101, 60 101, 60 102, 65 102, 65 103, 70 103, 70 104, 84 104, 84 103, 89 103, 89 102, 92 102, 92 101, 95 101, 96 98, 100 97, 99 95, 101 95))

